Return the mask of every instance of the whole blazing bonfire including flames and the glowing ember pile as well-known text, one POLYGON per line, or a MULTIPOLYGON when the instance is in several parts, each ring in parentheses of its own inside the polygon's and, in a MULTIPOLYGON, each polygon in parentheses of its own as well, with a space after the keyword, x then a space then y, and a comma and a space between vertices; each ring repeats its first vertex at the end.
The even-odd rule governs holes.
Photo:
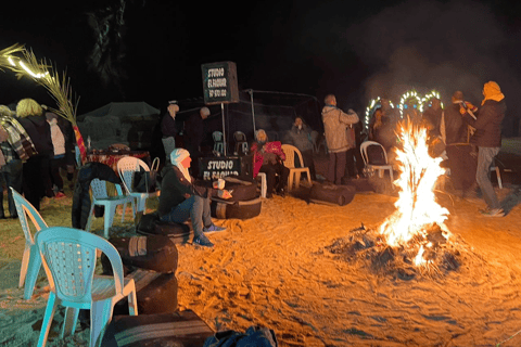
POLYGON ((450 235, 444 223, 449 213, 434 194, 437 179, 444 174, 442 158, 429 155, 428 129, 422 125, 405 120, 398 125, 397 134, 396 210, 378 228, 366 229, 363 224, 327 248, 350 260, 369 260, 374 270, 386 269, 403 279, 418 273, 442 275, 444 270, 459 268, 458 258, 466 248, 450 235))

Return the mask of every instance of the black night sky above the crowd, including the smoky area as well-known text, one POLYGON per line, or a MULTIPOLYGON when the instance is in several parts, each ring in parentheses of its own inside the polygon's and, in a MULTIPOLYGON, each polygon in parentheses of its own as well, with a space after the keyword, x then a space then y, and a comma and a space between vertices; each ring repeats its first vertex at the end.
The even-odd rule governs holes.
MULTIPOLYGON (((342 108, 358 113, 372 98, 397 102, 410 88, 436 89, 445 102, 460 89, 479 104, 483 83, 495 80, 509 107, 505 134, 519 130, 521 5, 512 1, 10 7, 2 11, 0 48, 25 43, 66 70, 80 97, 79 114, 111 101, 143 100, 163 110, 167 100, 200 98, 201 64, 232 61, 240 89, 306 93, 319 101, 335 93, 342 108), (106 34, 104 46, 97 41, 100 33, 106 34), (103 54, 93 54, 96 49, 103 54)), ((1 103, 50 103, 41 87, 12 75, 1 75, 1 103)))

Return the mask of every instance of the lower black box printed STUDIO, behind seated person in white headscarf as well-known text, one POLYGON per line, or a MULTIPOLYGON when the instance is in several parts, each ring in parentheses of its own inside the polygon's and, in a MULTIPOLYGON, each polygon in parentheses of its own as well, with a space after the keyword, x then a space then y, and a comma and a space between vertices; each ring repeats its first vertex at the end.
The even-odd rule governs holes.
POLYGON ((212 156, 199 158, 199 178, 213 181, 227 176, 253 180, 253 156, 212 156))

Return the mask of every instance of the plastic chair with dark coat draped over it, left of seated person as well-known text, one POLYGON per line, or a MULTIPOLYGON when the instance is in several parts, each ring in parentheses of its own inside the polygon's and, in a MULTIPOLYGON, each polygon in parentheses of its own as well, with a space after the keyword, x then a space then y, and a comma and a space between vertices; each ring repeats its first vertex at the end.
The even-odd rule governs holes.
POLYGON ((109 239, 109 229, 112 226, 112 222, 114 221, 114 215, 116 213, 116 207, 117 205, 123 205, 123 213, 122 213, 122 223, 125 220, 125 209, 127 207, 127 203, 132 204, 132 217, 136 217, 135 215, 135 205, 134 205, 134 196, 129 195, 123 195, 122 188, 119 184, 116 185, 116 196, 109 196, 106 193, 106 181, 102 181, 100 179, 94 178, 92 181, 90 181, 90 190, 92 192, 92 204, 90 205, 90 213, 89 213, 89 219, 87 220, 87 227, 85 230, 90 231, 90 227, 92 224, 92 218, 94 218, 94 206, 104 206, 105 213, 104 213, 104 228, 103 228, 103 234, 105 239, 109 239))

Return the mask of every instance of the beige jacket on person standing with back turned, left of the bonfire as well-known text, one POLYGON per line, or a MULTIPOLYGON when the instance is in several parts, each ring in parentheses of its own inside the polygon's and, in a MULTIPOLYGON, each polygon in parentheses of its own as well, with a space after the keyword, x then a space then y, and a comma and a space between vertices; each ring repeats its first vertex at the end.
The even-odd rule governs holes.
POLYGON ((350 150, 345 129, 348 125, 358 121, 356 113, 345 114, 342 110, 327 105, 322 108, 322 123, 326 132, 326 142, 330 153, 346 152, 350 150))

